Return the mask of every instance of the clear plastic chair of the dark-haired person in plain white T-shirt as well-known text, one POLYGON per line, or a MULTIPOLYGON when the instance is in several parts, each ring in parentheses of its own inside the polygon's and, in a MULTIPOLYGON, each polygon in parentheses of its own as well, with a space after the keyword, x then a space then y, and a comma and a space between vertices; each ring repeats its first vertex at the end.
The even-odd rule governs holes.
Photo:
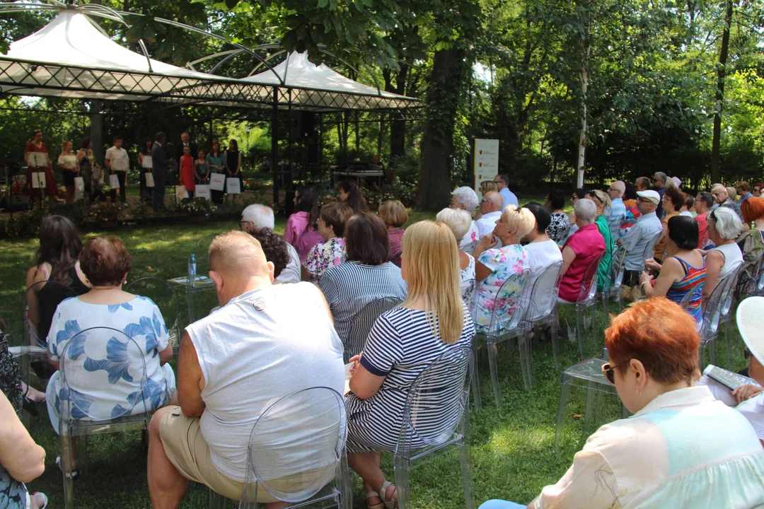
MULTIPOLYGON (((560 269, 562 269, 562 260, 552 263, 544 269, 536 281, 533 282, 533 289, 529 293, 529 308, 526 311, 524 320, 527 322, 526 330, 533 330, 533 327, 540 325, 549 325, 552 336, 552 352, 555 356, 555 369, 560 369, 560 354, 557 344, 557 295, 560 291, 560 269)), ((531 348, 526 349, 526 370, 528 372, 526 391, 533 385, 533 369, 531 366, 531 348)), ((525 381, 525 378, 523 378, 525 381)))

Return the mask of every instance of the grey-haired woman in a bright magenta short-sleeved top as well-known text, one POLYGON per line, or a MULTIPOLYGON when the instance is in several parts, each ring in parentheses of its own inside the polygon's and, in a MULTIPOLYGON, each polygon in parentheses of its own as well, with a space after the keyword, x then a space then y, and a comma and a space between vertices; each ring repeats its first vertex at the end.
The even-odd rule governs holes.
POLYGON ((563 302, 578 301, 581 282, 589 263, 605 250, 605 240, 594 220, 597 205, 589 198, 577 200, 573 205, 575 224, 578 226, 562 247, 562 279, 560 279, 559 299, 563 302))

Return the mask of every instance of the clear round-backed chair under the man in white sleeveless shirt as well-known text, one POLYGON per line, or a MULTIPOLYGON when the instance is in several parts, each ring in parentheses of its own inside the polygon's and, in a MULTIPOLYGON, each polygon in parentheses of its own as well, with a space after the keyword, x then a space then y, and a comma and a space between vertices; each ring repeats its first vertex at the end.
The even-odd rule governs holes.
POLYGON ((267 491, 290 507, 351 509, 342 395, 327 387, 293 392, 269 404, 252 428, 240 509, 267 491))

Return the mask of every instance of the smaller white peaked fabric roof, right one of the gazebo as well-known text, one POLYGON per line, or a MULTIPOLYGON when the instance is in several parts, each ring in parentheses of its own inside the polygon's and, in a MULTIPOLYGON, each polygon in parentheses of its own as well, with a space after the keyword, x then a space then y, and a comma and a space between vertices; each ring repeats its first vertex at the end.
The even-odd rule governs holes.
MULTIPOLYGON (((253 85, 270 85, 268 88, 260 89, 259 92, 252 91, 253 99, 257 101, 259 97, 265 104, 273 101, 270 87, 280 87, 280 105, 285 107, 291 102, 293 109, 397 110, 414 107, 419 102, 416 98, 380 91, 369 85, 355 82, 324 64, 316 66, 308 60, 307 53, 290 53, 273 69, 266 69, 240 81, 253 85), (288 89, 291 89, 291 98, 286 92, 288 89)), ((262 104, 240 105, 263 107, 262 104)))

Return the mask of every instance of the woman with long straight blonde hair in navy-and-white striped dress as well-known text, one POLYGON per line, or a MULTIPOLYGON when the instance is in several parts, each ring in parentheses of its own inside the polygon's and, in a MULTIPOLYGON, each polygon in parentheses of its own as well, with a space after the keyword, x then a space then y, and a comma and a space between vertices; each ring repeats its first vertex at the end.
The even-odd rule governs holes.
MULTIPOLYGON (((348 463, 364 479, 371 509, 397 504, 395 486, 380 469, 379 451, 395 450, 412 382, 449 349, 470 346, 475 335, 459 292, 456 237, 445 224, 421 221, 409 227, 402 263, 409 296, 377 319, 364 352, 351 359, 351 394, 345 399, 348 463)), ((418 425, 437 427, 439 420, 442 416, 420 415, 418 425)))

